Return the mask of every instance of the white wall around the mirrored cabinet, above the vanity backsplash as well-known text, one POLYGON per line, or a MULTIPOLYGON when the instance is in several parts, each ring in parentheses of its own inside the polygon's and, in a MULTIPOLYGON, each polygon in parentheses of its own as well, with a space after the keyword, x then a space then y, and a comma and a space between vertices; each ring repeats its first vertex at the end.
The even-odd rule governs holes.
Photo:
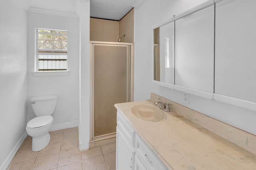
POLYGON ((152 26, 170 19, 206 0, 147 0, 135 9, 134 100, 150 98, 150 92, 183 104, 210 117, 256 135, 256 112, 241 107, 190 95, 182 102, 183 92, 152 84, 152 26))

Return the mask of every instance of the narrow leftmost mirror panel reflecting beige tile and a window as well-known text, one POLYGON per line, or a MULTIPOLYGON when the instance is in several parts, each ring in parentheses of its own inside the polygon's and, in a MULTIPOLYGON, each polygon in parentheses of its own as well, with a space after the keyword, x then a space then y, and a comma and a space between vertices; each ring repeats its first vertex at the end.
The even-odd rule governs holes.
POLYGON ((154 29, 154 80, 174 84, 174 21, 154 29))

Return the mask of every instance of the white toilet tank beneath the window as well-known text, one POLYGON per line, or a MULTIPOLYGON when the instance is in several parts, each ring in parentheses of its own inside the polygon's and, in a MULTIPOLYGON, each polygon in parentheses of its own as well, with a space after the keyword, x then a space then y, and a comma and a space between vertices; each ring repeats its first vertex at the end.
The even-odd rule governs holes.
POLYGON ((30 99, 30 103, 36 116, 51 115, 55 111, 57 95, 36 96, 30 99))

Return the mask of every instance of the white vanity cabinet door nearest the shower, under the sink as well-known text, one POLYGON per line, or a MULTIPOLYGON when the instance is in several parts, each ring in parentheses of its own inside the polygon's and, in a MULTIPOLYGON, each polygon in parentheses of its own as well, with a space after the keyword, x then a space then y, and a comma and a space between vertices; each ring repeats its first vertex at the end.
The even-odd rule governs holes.
POLYGON ((116 170, 134 170, 135 150, 116 127, 116 170))

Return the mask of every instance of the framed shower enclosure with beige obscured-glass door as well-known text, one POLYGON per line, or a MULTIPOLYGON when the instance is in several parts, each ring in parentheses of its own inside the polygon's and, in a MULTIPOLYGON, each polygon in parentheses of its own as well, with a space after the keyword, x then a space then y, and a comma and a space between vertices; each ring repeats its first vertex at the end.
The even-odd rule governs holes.
POLYGON ((133 43, 90 41, 92 140, 114 137, 114 104, 133 101, 133 47, 133 43))

